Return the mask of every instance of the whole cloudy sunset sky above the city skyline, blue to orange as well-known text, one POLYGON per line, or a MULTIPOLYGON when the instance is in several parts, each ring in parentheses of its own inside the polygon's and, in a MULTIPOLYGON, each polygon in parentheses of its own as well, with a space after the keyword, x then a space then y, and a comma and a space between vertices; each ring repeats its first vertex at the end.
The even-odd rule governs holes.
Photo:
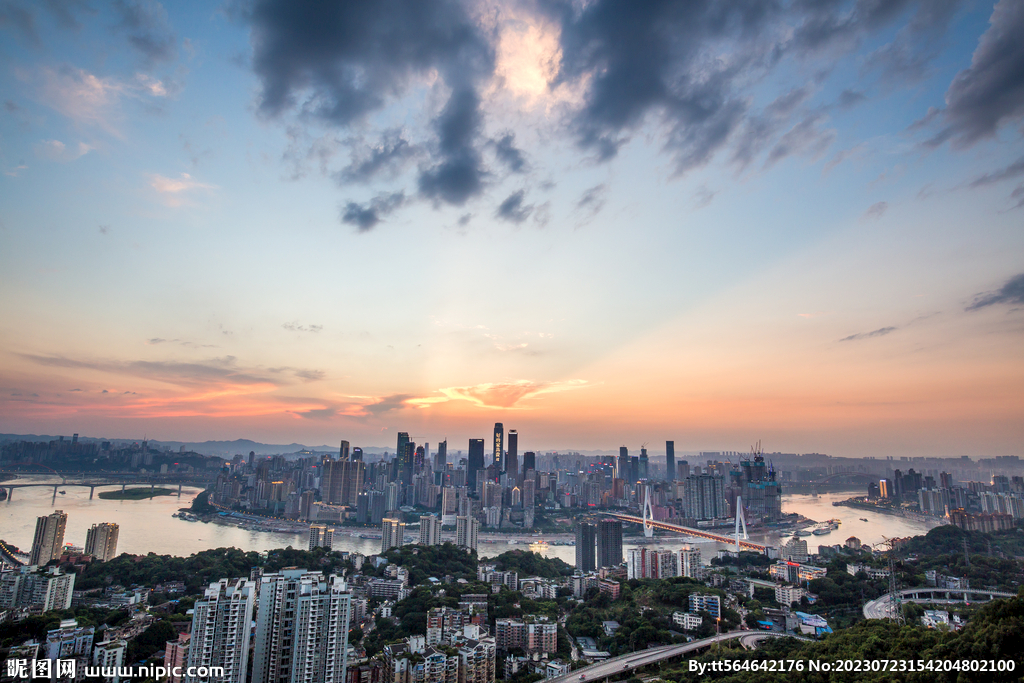
POLYGON ((1024 1, 0 2, 0 432, 1024 444, 1024 1))

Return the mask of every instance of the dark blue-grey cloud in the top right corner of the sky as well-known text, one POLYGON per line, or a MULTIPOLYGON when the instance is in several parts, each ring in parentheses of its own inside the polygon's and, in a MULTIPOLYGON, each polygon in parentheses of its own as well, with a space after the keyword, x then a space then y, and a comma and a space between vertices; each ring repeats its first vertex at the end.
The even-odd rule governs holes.
POLYGON ((1024 3, 1000 0, 971 66, 953 78, 942 112, 945 127, 930 140, 967 147, 1024 116, 1024 3))

